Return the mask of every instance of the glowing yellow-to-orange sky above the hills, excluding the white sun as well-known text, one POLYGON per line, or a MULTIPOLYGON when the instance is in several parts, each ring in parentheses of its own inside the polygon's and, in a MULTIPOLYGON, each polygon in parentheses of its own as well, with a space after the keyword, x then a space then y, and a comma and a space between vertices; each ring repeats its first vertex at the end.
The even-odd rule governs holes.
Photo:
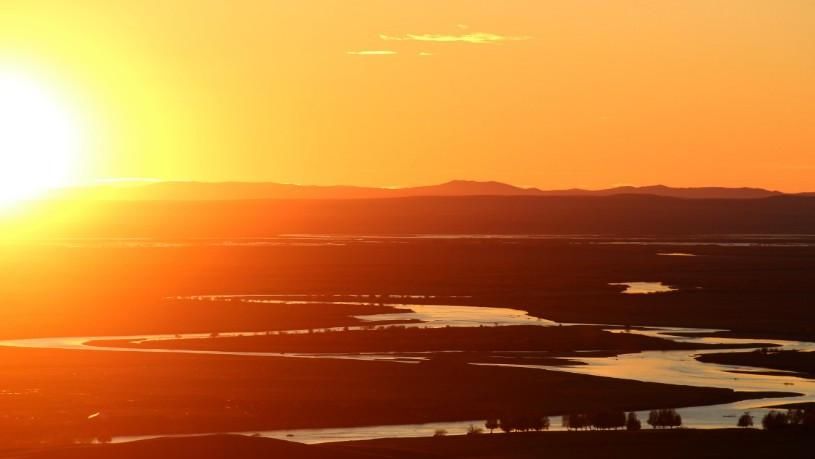
POLYGON ((2 0, 80 179, 815 190, 811 0, 2 0))

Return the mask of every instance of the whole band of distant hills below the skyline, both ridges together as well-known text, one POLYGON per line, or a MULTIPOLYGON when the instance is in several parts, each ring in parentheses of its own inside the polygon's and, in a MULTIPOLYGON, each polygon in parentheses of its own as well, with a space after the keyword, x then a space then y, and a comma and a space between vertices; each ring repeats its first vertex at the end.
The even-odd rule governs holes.
POLYGON ((815 235, 815 193, 758 188, 541 190, 463 180, 395 189, 152 182, 75 188, 55 197, 59 199, 0 217, 0 234, 159 239, 277 234, 815 235), (26 224, 42 221, 50 223, 26 224))

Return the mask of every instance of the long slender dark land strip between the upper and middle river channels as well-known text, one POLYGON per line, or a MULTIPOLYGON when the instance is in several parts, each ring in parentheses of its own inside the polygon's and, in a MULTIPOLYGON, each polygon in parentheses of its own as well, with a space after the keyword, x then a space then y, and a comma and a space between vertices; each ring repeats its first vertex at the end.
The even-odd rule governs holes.
POLYGON ((223 352, 359 353, 455 350, 492 353, 493 351, 537 351, 551 353, 551 357, 570 356, 575 351, 598 351, 602 352, 604 356, 613 356, 643 350, 701 350, 760 346, 760 344, 683 343, 635 333, 611 333, 603 328, 607 327, 587 325, 540 327, 526 325, 425 329, 391 326, 378 330, 338 330, 306 334, 216 336, 161 340, 93 340, 87 344, 89 346, 131 349, 184 349, 223 352))

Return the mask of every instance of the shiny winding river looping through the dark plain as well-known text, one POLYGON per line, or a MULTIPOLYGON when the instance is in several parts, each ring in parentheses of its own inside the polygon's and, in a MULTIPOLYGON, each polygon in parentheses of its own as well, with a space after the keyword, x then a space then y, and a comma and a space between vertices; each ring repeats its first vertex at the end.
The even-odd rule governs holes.
MULTIPOLYGON (((326 300, 308 299, 300 296, 298 300, 285 299, 279 295, 229 295, 229 296, 196 296, 188 299, 207 301, 210 299, 229 297, 237 301, 263 302, 274 304, 296 304, 296 303, 326 303, 326 300)), ((408 327, 478 327, 478 326, 509 326, 509 325, 538 325, 556 326, 570 324, 558 324, 556 322, 530 316, 526 311, 511 308, 490 308, 477 306, 453 306, 453 305, 429 305, 429 304, 407 304, 411 299, 419 297, 390 297, 388 304, 399 308, 405 308, 405 312, 388 313, 357 316, 360 320, 367 322, 367 325, 358 328, 377 328, 388 325, 377 324, 382 321, 412 320, 408 327)), ((420 297, 427 299, 425 297, 420 297)), ((352 298, 355 301, 333 301, 344 304, 363 304, 363 298, 352 298), (357 301, 358 300, 358 301, 357 301)), ((736 338, 720 337, 700 337, 684 336, 685 334, 705 334, 718 330, 694 329, 694 328, 670 328, 670 327, 638 327, 630 330, 622 330, 615 326, 608 326, 608 331, 614 333, 628 332, 638 333, 648 336, 656 336, 676 342, 700 343, 700 344, 733 344, 744 345, 753 344, 757 341, 771 343, 785 350, 815 351, 815 343, 803 341, 784 341, 775 339, 747 340, 736 338)), ((341 330, 342 328, 332 328, 341 330)), ((287 330, 274 333, 305 333, 307 330, 287 330)), ((264 332, 264 334, 267 332, 264 332)), ((219 333, 219 336, 230 335, 252 335, 258 333, 231 332, 219 333)), ((104 350, 118 352, 173 352, 188 354, 229 354, 229 355, 251 355, 251 356, 271 356, 288 358, 333 358, 333 359, 355 359, 355 360, 387 360, 400 363, 416 363, 427 359, 427 355, 422 353, 395 354, 395 353, 362 353, 362 354, 313 354, 313 353, 275 353, 275 352, 225 352, 225 351, 205 351, 205 350, 173 350, 173 349, 144 349, 144 348, 122 348, 110 346, 88 345, 90 341, 99 340, 128 340, 128 341, 161 341, 168 339, 191 339, 208 337, 209 334, 189 333, 174 335, 139 335, 139 336, 85 336, 85 337, 60 337, 60 338, 33 338, 0 341, 0 346, 23 347, 23 348, 47 348, 47 349, 82 349, 87 351, 104 350)), ((736 418, 745 411, 750 411, 757 419, 767 411, 767 406, 791 402, 815 401, 815 380, 803 378, 792 373, 774 372, 772 375, 760 374, 754 367, 739 367, 732 365, 719 365, 713 363, 702 363, 694 356, 707 352, 744 352, 750 349, 737 349, 727 351, 722 349, 705 351, 644 351, 633 354, 623 354, 617 357, 570 357, 570 360, 577 360, 583 365, 568 366, 540 366, 540 365, 511 365, 530 369, 546 369, 553 371, 566 371, 595 376, 607 376, 638 381, 684 384, 690 386, 705 386, 734 389, 738 391, 762 391, 762 392, 795 392, 802 394, 797 397, 786 397, 778 399, 757 399, 745 400, 735 403, 713 406, 701 406, 683 408, 678 410, 682 415, 684 423, 688 427, 694 428, 720 428, 733 427, 736 418)), ((479 363, 474 363, 479 364, 479 363)), ((496 365, 496 364, 491 364, 496 365)), ((647 413, 640 413, 640 418, 647 417, 647 413)), ((450 434, 464 433, 471 424, 481 426, 483 420, 444 422, 430 424, 409 424, 409 425, 385 425, 366 426, 351 428, 326 428, 326 429, 296 429, 296 430, 275 430, 266 432, 235 432, 247 435, 260 435, 271 438, 280 438, 302 443, 320 443, 329 441, 363 440, 385 437, 418 437, 432 435, 438 429, 444 429, 450 434)), ((552 429, 562 428, 558 420, 552 422, 552 429)), ((202 433, 204 434, 204 433, 202 433)), ((114 442, 133 441, 149 437, 116 437, 114 442)))

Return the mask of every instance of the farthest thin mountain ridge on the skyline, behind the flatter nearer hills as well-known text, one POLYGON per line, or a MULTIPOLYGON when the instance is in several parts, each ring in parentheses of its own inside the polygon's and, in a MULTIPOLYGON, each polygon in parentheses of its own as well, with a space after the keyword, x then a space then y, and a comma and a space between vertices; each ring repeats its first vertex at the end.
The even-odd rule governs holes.
MULTIPOLYGON (((270 182, 136 182, 62 190, 57 197, 102 200, 220 201, 245 199, 379 199, 422 196, 613 196, 650 195, 685 199, 759 199, 785 193, 762 188, 674 188, 664 185, 621 186, 602 190, 541 190, 501 182, 453 180, 406 188, 289 185, 270 182)), ((815 196, 815 193, 800 195, 815 196)))

